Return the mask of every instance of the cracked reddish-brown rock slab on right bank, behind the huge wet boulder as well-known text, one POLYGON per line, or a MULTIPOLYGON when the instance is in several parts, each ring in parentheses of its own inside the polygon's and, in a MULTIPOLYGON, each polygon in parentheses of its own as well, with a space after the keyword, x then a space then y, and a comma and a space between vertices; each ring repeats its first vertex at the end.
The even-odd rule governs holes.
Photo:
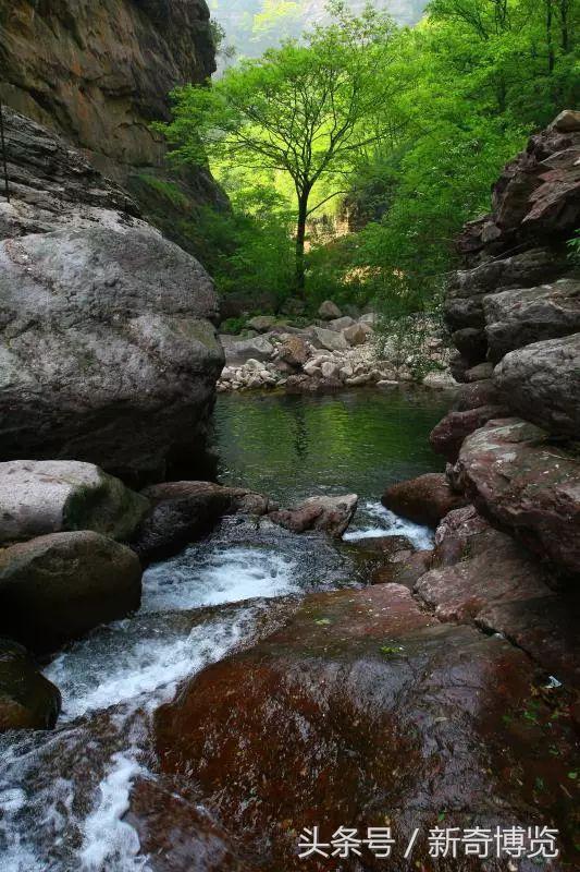
POLYGON ((580 690, 580 593, 559 589, 550 569, 511 536, 472 506, 457 509, 436 530, 428 569, 415 591, 440 617, 502 633, 580 690))

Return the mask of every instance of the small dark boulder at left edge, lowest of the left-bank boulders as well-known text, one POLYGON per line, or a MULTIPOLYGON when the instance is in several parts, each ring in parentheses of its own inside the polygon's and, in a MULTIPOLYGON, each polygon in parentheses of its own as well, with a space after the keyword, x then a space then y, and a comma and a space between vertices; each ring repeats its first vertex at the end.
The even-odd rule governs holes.
POLYGON ((58 688, 21 645, 0 639, 0 732, 51 729, 61 710, 58 688))

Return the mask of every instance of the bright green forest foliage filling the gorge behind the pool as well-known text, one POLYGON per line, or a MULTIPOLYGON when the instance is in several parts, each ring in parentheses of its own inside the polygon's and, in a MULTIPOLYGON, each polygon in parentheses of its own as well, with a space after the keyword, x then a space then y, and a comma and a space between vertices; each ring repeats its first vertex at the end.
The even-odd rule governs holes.
MULTIPOLYGON (((272 4, 272 15, 276 5, 282 21, 292 4, 272 4)), ((393 315, 431 311, 455 265, 454 238, 489 209, 503 165, 531 133, 578 105, 577 34, 578 0, 432 0, 412 27, 380 10, 331 4, 298 38, 233 59, 213 85, 173 95, 174 121, 162 125, 173 159, 201 164, 207 156, 232 203, 230 213, 198 210, 182 230, 219 291, 242 299, 248 316, 283 308, 301 291, 309 311, 325 298, 393 315), (350 45, 337 37, 345 28, 350 45), (244 148, 248 136, 256 145, 277 135, 275 112, 258 112, 248 126, 247 107, 270 99, 264 111, 275 110, 288 83, 294 93, 300 82, 311 87, 308 71, 311 81, 331 69, 346 82, 359 38, 368 40, 360 58, 372 46, 372 70, 367 60, 366 72, 362 61, 356 68, 363 111, 348 149, 314 180, 310 202, 322 205, 307 218, 297 289, 298 189, 284 162, 260 162, 244 148)), ((347 90, 336 104, 348 102, 347 90)), ((341 111, 350 118, 342 104, 333 106, 335 119, 341 111)), ((298 114, 307 111, 303 101, 298 114)), ((329 124, 324 117, 321 153, 329 124)))

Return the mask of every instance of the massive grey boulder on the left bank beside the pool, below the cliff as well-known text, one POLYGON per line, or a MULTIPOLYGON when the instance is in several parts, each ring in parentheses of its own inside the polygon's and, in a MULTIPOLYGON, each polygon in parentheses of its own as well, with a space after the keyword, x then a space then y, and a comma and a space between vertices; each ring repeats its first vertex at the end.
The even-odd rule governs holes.
POLYGON ((120 213, 78 153, 14 119, 26 184, 0 204, 0 456, 163 474, 199 455, 223 365, 211 279, 120 213))

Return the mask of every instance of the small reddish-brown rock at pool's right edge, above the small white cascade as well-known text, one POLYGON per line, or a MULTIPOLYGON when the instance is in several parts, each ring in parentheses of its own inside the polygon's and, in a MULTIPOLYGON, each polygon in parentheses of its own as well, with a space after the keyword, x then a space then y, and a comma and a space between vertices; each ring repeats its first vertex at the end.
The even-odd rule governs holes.
POLYGON ((467 505, 465 497, 454 493, 445 475, 439 472, 392 485, 381 502, 403 518, 429 526, 436 526, 449 511, 467 505))

